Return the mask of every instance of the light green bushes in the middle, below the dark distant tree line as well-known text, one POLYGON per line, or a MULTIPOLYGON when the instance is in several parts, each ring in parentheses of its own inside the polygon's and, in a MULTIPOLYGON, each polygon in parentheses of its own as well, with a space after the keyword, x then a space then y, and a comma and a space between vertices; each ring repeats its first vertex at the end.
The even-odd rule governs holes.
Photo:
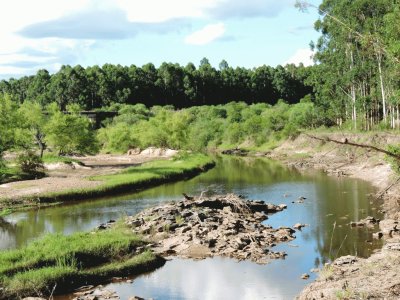
POLYGON ((149 146, 207 151, 231 145, 262 147, 270 141, 295 136, 314 128, 318 118, 309 97, 298 104, 279 101, 275 106, 244 102, 173 110, 153 107, 146 118, 129 122, 122 112, 99 130, 98 139, 106 152, 125 152, 149 146))

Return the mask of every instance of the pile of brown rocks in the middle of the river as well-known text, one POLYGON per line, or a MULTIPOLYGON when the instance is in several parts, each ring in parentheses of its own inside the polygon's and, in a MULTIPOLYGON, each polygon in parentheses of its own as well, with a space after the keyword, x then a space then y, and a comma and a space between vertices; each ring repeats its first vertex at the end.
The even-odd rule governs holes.
POLYGON ((151 240, 153 250, 159 254, 190 258, 218 255, 267 263, 286 255, 269 248, 295 238, 292 228, 273 229, 262 224, 267 214, 285 208, 284 204, 249 201, 228 194, 154 207, 129 217, 127 224, 151 240))

